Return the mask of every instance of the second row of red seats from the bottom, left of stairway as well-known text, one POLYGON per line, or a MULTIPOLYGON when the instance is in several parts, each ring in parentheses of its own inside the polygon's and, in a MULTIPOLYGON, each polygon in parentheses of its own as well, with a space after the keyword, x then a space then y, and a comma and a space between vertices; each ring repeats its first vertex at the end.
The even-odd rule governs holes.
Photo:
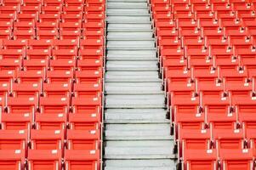
MULTIPOLYGON (((1 130, 1 150, 98 150, 100 130, 1 130)), ((63 155, 63 153, 61 154, 63 155)))

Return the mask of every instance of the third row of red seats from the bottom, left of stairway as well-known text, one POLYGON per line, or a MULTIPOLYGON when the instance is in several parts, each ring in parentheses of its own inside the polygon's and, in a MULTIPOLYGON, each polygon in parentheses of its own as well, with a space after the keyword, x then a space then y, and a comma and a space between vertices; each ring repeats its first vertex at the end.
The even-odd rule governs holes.
MULTIPOLYGON (((93 108, 93 107, 92 107, 93 108)), ((100 107, 98 108, 100 110, 100 107)), ((1 113, 1 133, 8 133, 9 130, 85 130, 100 131, 100 111, 80 111, 70 113, 1 113)), ((77 132, 78 132, 77 131, 77 132)), ((71 131, 72 132, 72 131, 71 131)), ((86 138, 86 135, 84 136, 86 138)), ((3 137, 4 138, 4 137, 3 137)))

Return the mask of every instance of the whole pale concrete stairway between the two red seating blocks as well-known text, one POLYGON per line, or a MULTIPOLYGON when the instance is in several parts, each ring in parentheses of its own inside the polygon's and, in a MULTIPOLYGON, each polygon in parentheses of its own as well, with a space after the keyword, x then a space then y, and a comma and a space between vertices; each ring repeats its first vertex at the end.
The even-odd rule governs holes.
POLYGON ((105 170, 175 169, 146 0, 107 0, 105 170))

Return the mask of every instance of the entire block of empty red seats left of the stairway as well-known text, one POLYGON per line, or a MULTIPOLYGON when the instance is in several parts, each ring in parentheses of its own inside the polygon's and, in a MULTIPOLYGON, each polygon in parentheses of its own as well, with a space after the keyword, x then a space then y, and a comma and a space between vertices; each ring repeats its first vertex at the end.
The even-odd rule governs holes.
POLYGON ((105 1, 0 1, 0 169, 100 169, 105 1))

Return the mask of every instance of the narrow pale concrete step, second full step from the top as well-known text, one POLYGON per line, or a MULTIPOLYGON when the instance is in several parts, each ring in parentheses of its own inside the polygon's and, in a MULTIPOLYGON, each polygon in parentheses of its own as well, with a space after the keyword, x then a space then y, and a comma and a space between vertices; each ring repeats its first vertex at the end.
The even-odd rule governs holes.
POLYGON ((147 8, 109 8, 106 11, 108 16, 147 16, 150 17, 147 8))

